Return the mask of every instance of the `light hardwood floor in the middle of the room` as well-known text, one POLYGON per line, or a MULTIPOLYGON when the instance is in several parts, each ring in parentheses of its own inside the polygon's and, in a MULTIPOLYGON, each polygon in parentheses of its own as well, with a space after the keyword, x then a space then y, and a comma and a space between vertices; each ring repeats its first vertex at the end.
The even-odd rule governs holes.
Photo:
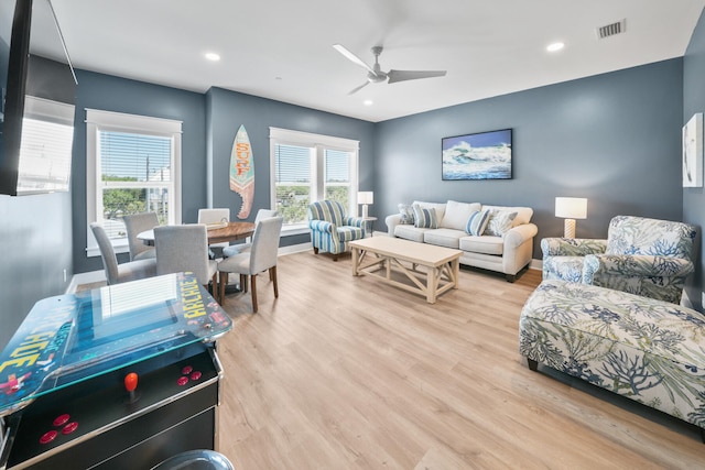
POLYGON ((226 297, 218 449, 238 470, 705 468, 697 430, 518 352, 514 284, 460 271, 436 304, 351 275, 350 256, 279 260, 226 297))

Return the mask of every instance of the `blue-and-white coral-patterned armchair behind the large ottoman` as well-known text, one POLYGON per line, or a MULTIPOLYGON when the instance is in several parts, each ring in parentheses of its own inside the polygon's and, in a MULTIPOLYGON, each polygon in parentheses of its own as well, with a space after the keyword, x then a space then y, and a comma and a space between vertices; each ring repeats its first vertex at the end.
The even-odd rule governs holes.
POLYGON ((592 284, 681 303, 695 227, 668 220, 617 216, 607 240, 544 238, 543 278, 592 284))

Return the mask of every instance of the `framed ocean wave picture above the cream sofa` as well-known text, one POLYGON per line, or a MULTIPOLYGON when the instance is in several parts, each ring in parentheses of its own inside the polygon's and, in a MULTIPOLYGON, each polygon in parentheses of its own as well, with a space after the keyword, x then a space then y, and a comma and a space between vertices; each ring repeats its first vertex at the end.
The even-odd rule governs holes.
POLYGON ((511 179, 511 129, 443 138, 443 181, 511 179))

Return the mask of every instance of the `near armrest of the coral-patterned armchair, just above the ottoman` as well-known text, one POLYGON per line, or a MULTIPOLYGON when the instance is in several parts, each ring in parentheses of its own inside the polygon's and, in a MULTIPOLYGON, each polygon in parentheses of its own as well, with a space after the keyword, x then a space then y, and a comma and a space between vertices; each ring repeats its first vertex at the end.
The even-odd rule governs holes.
POLYGON ((593 284, 598 275, 627 277, 685 277, 695 271, 683 258, 650 254, 588 254, 583 263, 583 282, 593 284))

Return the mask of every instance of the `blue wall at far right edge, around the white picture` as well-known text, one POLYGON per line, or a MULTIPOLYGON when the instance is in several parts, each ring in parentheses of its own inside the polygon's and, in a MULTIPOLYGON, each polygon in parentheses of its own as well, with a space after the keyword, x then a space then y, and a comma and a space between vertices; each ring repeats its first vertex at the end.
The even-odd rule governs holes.
MULTIPOLYGON (((685 124, 696 112, 705 112, 705 12, 693 32, 683 58, 683 116, 685 124)), ((705 250, 702 248, 702 231, 705 227, 705 193, 703 188, 683 188, 683 220, 698 227, 695 274, 688 278, 685 293, 693 305, 703 311, 701 293, 705 289, 703 265, 705 250)))

